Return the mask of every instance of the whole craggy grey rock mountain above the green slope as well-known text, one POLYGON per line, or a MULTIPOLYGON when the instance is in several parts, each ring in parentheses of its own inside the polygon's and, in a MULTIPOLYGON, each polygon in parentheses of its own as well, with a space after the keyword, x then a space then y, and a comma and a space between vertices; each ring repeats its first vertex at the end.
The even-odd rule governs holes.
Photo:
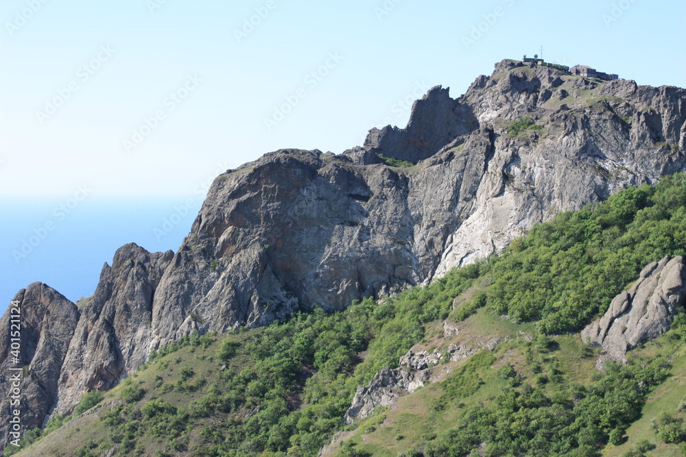
POLYGON ((23 395, 40 405, 23 425, 182 336, 424 284, 560 211, 684 169, 686 90, 504 60, 458 99, 429 90, 405 129, 372 129, 362 147, 282 149, 220 175, 176 253, 122 247, 80 310, 43 284, 20 291, 36 373, 23 395))

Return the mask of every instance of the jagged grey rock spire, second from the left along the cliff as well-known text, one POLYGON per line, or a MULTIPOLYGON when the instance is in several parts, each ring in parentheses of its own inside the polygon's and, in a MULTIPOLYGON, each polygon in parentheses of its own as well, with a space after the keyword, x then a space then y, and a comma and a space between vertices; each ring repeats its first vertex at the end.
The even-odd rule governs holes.
POLYGON ((172 256, 130 244, 117 250, 112 267, 105 264, 73 330, 55 412, 71 411, 84 393, 115 386, 147 360, 153 296, 172 256))

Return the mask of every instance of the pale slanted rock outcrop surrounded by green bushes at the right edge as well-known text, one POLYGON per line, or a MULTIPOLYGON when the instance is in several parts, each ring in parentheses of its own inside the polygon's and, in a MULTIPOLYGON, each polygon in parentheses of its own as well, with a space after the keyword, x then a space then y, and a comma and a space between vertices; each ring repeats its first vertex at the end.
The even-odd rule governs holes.
POLYGON ((582 339, 602 347, 596 367, 607 360, 626 362, 626 351, 641 341, 670 329, 686 295, 686 264, 677 256, 653 262, 641 271, 639 280, 610 304, 602 319, 587 326, 582 339))

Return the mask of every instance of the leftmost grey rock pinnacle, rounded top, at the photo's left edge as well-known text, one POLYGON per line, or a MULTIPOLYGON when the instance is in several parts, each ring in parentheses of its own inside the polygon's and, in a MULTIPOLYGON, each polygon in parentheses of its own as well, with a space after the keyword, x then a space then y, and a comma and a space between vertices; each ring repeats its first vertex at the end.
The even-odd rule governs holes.
POLYGON ((75 304, 54 289, 34 282, 19 291, 14 297, 19 302, 21 328, 10 325, 12 309, 0 319, 0 395, 3 404, 3 420, 0 421, 0 436, 6 444, 8 439, 8 418, 10 391, 15 387, 12 368, 22 368, 21 425, 23 431, 39 427, 45 415, 58 399, 60 369, 67 356, 69 342, 80 319, 75 304), (21 333, 21 355, 19 361, 10 357, 13 331, 21 333), (5 409, 7 408, 7 409, 5 409))

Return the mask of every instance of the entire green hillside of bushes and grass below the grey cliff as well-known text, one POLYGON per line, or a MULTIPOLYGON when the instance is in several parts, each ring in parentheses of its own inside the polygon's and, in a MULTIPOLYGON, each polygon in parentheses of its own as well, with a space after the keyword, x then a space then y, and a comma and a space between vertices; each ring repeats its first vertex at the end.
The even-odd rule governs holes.
POLYGON ((466 360, 444 357, 442 367, 451 370, 445 380, 348 428, 339 455, 672 452, 686 446, 686 406, 674 409, 670 397, 666 415, 663 406, 650 408, 667 376, 686 369, 684 315, 632 351, 628 365, 609 364, 595 375, 596 352, 570 332, 604 312, 646 264, 685 249, 686 176, 674 175, 560 214, 497 256, 379 303, 367 298, 340 312, 315 308, 265 328, 182 338, 155 351, 121 386, 84 396, 74 417, 27 432, 23 443, 54 455, 44 438, 54 434, 56 445, 73 443, 65 456, 110 449, 315 456, 344 429, 359 384, 397 367, 418 343, 446 349, 438 329, 450 317, 463 331, 500 343, 466 360), (103 399, 106 406, 76 417, 103 399), (625 443, 633 423, 653 417, 647 436, 625 443))

